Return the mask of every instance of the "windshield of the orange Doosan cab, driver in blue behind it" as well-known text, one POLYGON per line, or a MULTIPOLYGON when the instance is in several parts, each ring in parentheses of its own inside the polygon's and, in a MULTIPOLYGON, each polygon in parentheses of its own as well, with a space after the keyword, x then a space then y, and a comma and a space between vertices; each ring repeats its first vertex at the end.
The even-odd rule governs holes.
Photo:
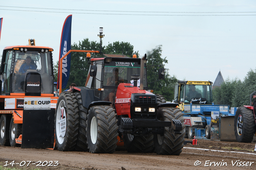
POLYGON ((15 51, 12 92, 24 93, 24 78, 27 72, 38 72, 41 75, 42 94, 52 93, 51 75, 53 73, 50 52, 26 51, 24 53, 18 50, 15 51))

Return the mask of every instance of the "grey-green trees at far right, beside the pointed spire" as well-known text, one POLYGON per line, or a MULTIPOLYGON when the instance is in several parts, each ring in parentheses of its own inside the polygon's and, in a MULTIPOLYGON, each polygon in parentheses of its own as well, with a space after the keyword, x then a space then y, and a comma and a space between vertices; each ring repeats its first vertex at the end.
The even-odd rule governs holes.
POLYGON ((215 87, 213 92, 214 104, 240 107, 250 105, 250 94, 256 91, 256 70, 250 69, 244 81, 227 78, 220 87, 215 87))

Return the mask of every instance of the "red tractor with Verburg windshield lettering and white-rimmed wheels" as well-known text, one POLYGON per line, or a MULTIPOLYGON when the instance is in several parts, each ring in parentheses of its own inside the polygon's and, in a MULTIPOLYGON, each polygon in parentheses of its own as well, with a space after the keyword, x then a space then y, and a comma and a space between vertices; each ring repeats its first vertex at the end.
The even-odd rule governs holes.
MULTIPOLYGON (((185 135, 183 113, 178 104, 148 92, 146 55, 142 59, 88 57, 88 61, 85 86, 59 96, 58 150, 113 153, 124 142, 128 152, 179 155, 185 135)), ((158 74, 163 79, 164 68, 158 74)))

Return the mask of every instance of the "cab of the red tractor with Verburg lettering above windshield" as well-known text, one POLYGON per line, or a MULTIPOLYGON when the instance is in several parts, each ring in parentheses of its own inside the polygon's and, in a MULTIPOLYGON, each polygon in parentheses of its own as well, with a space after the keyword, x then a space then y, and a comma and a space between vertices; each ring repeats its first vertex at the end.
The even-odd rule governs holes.
MULTIPOLYGON (((86 80, 86 87, 94 89, 95 101, 109 101, 109 94, 111 92, 116 92, 120 83, 130 83, 133 86, 134 81, 132 80, 131 75, 140 74, 139 58, 93 58, 91 59, 91 62, 92 64, 88 73, 89 78, 86 80), (112 78, 112 76, 116 74, 113 72, 114 68, 116 68, 115 70, 118 70, 118 83, 112 82, 111 84, 108 84, 108 78, 112 78)), ((144 90, 147 90, 146 63, 144 64, 144 74, 144 90)), ((137 86, 140 86, 140 79, 137 81, 137 86)))

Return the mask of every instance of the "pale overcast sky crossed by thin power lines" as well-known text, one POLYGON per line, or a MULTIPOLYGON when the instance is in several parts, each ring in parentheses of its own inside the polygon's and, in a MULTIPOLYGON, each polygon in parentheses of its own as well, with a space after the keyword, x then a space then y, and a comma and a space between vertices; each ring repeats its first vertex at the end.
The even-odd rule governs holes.
POLYGON ((35 39, 54 49, 56 63, 62 26, 72 14, 72 44, 99 42, 103 27, 103 46, 129 42, 143 56, 162 45, 165 68, 178 80, 214 82, 219 71, 224 80, 244 80, 256 68, 255 0, 0 1, 1 55, 6 46, 35 39))

